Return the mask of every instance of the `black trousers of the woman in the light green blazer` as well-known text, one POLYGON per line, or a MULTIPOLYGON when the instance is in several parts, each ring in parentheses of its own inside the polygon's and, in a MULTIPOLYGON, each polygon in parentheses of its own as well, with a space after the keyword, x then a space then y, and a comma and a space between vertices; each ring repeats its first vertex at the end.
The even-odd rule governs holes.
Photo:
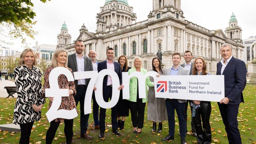
POLYGON ((138 127, 138 129, 143 128, 145 106, 146 103, 142 103, 142 99, 139 98, 137 92, 136 102, 129 102, 133 127, 138 127))

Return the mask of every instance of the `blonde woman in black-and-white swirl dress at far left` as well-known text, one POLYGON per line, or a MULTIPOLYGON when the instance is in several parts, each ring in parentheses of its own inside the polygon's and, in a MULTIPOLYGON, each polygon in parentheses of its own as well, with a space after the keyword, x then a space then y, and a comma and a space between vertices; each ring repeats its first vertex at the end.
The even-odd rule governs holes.
POLYGON ((42 97, 41 73, 36 67, 35 52, 25 49, 20 55, 19 65, 14 69, 18 98, 14 106, 13 123, 20 125, 19 143, 27 144, 34 121, 41 119, 45 99, 42 97))

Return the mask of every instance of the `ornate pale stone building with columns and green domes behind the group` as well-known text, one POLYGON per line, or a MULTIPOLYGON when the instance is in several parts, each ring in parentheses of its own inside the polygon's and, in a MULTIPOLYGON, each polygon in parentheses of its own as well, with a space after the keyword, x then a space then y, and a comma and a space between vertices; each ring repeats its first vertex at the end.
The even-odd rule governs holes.
MULTIPOLYGON (((233 46, 234 57, 243 59, 242 29, 234 14, 223 32, 222 29, 209 30, 186 20, 181 10, 181 0, 152 0, 152 6, 148 19, 137 22, 136 13, 127 0, 106 0, 96 15, 96 33, 89 32, 82 25, 80 35, 75 38, 83 40, 84 55, 95 50, 97 61, 100 62, 106 58, 106 49, 112 47, 115 60, 120 55, 126 55, 132 67, 134 58, 140 56, 143 68, 150 70, 152 58, 159 50, 163 54, 164 68, 171 66, 174 52, 180 52, 183 56, 186 50, 190 50, 194 57, 204 57, 207 71, 212 74, 216 74, 216 64, 221 60, 220 46, 224 43, 233 46)), ((69 54, 75 52, 65 23, 57 40, 57 49, 64 48, 69 54)))

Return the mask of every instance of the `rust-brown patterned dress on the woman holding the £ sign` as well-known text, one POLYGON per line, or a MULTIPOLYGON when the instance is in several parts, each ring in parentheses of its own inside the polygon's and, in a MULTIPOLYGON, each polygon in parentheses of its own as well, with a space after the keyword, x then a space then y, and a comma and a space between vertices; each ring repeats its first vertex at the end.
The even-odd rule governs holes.
MULTIPOLYGON (((67 68, 72 74, 72 70, 71 68, 67 68)), ((53 70, 53 67, 49 67, 47 68, 45 75, 44 75, 44 87, 43 87, 43 97, 45 97, 45 89, 46 88, 50 88, 50 84, 49 84, 49 75, 50 72, 53 70)), ((59 109, 65 109, 65 110, 72 110, 72 109, 76 109, 76 102, 74 100, 74 96, 76 95, 76 86, 74 81, 69 82, 67 77, 64 74, 61 74, 58 76, 58 84, 59 84, 59 88, 60 89, 72 89, 74 91, 73 94, 69 95, 69 97, 61 97, 61 105, 58 108, 59 109)), ((49 102, 49 109, 52 105, 52 102, 49 102)), ((57 118, 55 119, 56 122, 60 121, 63 122, 64 119, 62 118, 57 118)))

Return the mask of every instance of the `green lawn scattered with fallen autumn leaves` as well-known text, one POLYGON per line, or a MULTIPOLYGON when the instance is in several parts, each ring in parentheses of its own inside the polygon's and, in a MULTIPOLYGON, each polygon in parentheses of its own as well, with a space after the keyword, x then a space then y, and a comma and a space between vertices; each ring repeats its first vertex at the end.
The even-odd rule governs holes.
MULTIPOLYGON (((254 143, 256 141, 256 138, 254 134, 256 134, 256 116, 255 116, 255 96, 256 96, 256 85, 247 85, 244 92, 244 101, 245 103, 241 103, 239 107, 239 113, 238 113, 238 128, 240 129, 241 137, 242 137, 242 143, 254 143)), ((6 124, 6 123, 12 123, 13 120, 13 108, 15 103, 15 98, 0 98, 0 124, 6 124)), ((212 129, 212 143, 228 143, 225 127, 222 122, 222 118, 220 115, 220 111, 218 108, 217 103, 212 102, 212 112, 211 112, 211 129, 212 129)), ((49 122, 46 120, 46 111, 47 106, 49 105, 49 100, 47 99, 46 104, 44 105, 44 108, 42 109, 42 120, 40 122, 36 121, 34 125, 36 126, 35 129, 33 129, 31 133, 31 143, 36 143, 41 141, 42 143, 45 143, 45 135, 46 131, 49 128, 49 122)), ((146 106, 147 108, 147 106, 146 106)), ((191 129, 189 125, 189 121, 191 119, 191 111, 188 107, 188 130, 191 129), (190 116, 189 116, 190 115, 190 116)), ((78 105, 78 110, 80 109, 78 105)), ((106 111, 106 120, 105 122, 107 124, 111 123, 111 109, 107 109, 106 111)), ((132 132, 132 123, 131 123, 131 116, 126 118, 125 121, 125 129, 124 131, 121 131, 121 136, 117 137, 114 134, 112 134, 111 127, 106 126, 106 129, 108 130, 105 132, 105 139, 99 139, 98 134, 99 130, 94 130, 94 124, 93 124, 93 116, 92 113, 89 117, 89 126, 88 126, 88 132, 89 135, 93 136, 94 139, 92 141, 87 141, 84 139, 80 139, 80 118, 79 115, 77 118, 74 119, 74 126, 73 131, 75 133, 73 137, 73 143, 168 143, 168 142, 162 142, 161 139, 165 137, 168 134, 168 121, 163 122, 163 132, 162 133, 155 133, 153 134, 151 132, 152 129, 152 122, 147 121, 147 110, 145 109, 145 122, 144 122, 144 128, 142 129, 142 133, 140 135, 135 135, 132 132)), ((179 131, 178 126, 178 119, 177 114, 175 114, 175 122, 177 122, 177 125, 175 125, 175 137, 174 140, 172 140, 170 143, 180 143, 180 137, 177 134, 179 131)), ((53 143, 65 143, 65 135, 64 135, 64 123, 61 124, 56 132, 55 140, 53 143)), ((12 133, 12 132, 6 132, 2 131, 0 132, 0 143, 18 143, 19 142, 20 133, 12 133)), ((189 134, 186 135, 186 141, 188 143, 196 143, 196 137, 193 137, 189 134)))

